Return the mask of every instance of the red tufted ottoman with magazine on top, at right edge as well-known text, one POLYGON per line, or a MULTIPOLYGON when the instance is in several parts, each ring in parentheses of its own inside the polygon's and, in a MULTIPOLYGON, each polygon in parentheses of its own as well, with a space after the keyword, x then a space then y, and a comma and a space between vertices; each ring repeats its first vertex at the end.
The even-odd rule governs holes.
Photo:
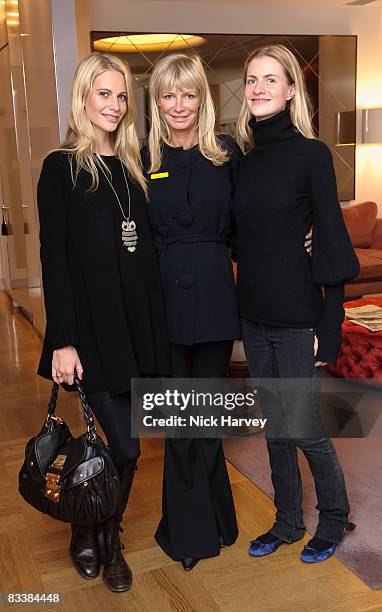
MULTIPOLYGON (((345 308, 374 304, 382 307, 382 297, 346 302, 345 308)), ((370 332, 346 320, 342 324, 341 350, 335 365, 327 366, 336 376, 365 379, 382 385, 382 331, 370 332), (380 379, 377 381, 376 379, 380 379)))

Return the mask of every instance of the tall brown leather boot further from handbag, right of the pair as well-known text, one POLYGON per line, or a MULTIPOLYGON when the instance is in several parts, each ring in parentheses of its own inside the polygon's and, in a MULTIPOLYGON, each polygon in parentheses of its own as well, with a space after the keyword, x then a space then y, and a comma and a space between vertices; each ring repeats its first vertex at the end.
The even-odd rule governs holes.
POLYGON ((98 528, 102 562, 104 564, 102 578, 107 588, 117 593, 128 591, 133 583, 133 574, 121 552, 124 545, 119 540, 119 532, 123 531, 120 523, 129 500, 135 469, 136 461, 118 470, 121 480, 121 499, 118 513, 98 528))

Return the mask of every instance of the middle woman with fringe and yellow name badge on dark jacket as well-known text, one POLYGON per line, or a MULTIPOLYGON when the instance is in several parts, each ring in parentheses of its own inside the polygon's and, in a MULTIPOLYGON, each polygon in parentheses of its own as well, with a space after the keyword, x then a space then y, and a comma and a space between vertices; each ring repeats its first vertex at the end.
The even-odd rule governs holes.
MULTIPOLYGON (((216 136, 202 62, 173 54, 150 82, 151 131, 143 151, 148 213, 159 251, 172 375, 223 378, 240 338, 229 246, 240 149, 216 136)), ((220 439, 166 438, 163 517, 156 540, 191 570, 237 538, 220 439)))

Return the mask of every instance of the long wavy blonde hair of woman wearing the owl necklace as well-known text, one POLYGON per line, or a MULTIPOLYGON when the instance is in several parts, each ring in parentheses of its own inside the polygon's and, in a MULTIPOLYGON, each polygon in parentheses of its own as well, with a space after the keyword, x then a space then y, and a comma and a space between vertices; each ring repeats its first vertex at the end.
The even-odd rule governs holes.
POLYGON ((94 52, 85 57, 78 65, 73 83, 69 127, 59 150, 70 154, 74 183, 81 169, 86 170, 91 175, 91 191, 96 190, 99 185, 99 167, 110 175, 110 170, 102 158, 99 155, 94 155, 97 149, 96 135, 85 110, 85 101, 92 90, 94 80, 105 70, 115 70, 122 74, 127 92, 126 114, 112 134, 115 154, 118 155, 127 167, 131 177, 147 195, 147 184, 142 172, 139 141, 135 130, 137 109, 134 100, 133 82, 128 65, 118 57, 109 53, 94 52), (73 160, 76 162, 75 171, 73 170, 73 160))

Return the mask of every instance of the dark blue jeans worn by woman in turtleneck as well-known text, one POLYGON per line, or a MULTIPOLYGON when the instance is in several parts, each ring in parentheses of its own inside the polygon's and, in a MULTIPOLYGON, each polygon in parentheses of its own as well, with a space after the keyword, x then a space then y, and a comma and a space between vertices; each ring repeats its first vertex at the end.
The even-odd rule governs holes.
MULTIPOLYGON (((314 330, 310 328, 274 327, 242 320, 243 341, 252 378, 309 379, 315 381, 313 391, 305 396, 308 405, 304 413, 299 409, 292 414, 292 427, 300 415, 316 424, 319 414, 319 372, 314 367, 314 330)), ((277 380, 276 380, 277 383, 277 380)), ((283 398, 272 403, 271 414, 277 406, 285 409, 283 398)), ((292 410, 293 412, 293 410, 292 410)), ((286 420, 288 423, 288 419, 286 420)), ((289 425, 287 425, 287 428, 289 425)), ((280 429, 284 431, 285 422, 280 429)), ((302 485, 298 466, 297 448, 304 453, 317 494, 319 522, 315 535, 323 540, 338 543, 353 528, 348 521, 350 511, 345 479, 337 453, 331 441, 320 437, 267 437, 272 483, 275 491, 276 521, 270 530, 285 542, 300 540, 305 533, 302 516, 302 485)))

